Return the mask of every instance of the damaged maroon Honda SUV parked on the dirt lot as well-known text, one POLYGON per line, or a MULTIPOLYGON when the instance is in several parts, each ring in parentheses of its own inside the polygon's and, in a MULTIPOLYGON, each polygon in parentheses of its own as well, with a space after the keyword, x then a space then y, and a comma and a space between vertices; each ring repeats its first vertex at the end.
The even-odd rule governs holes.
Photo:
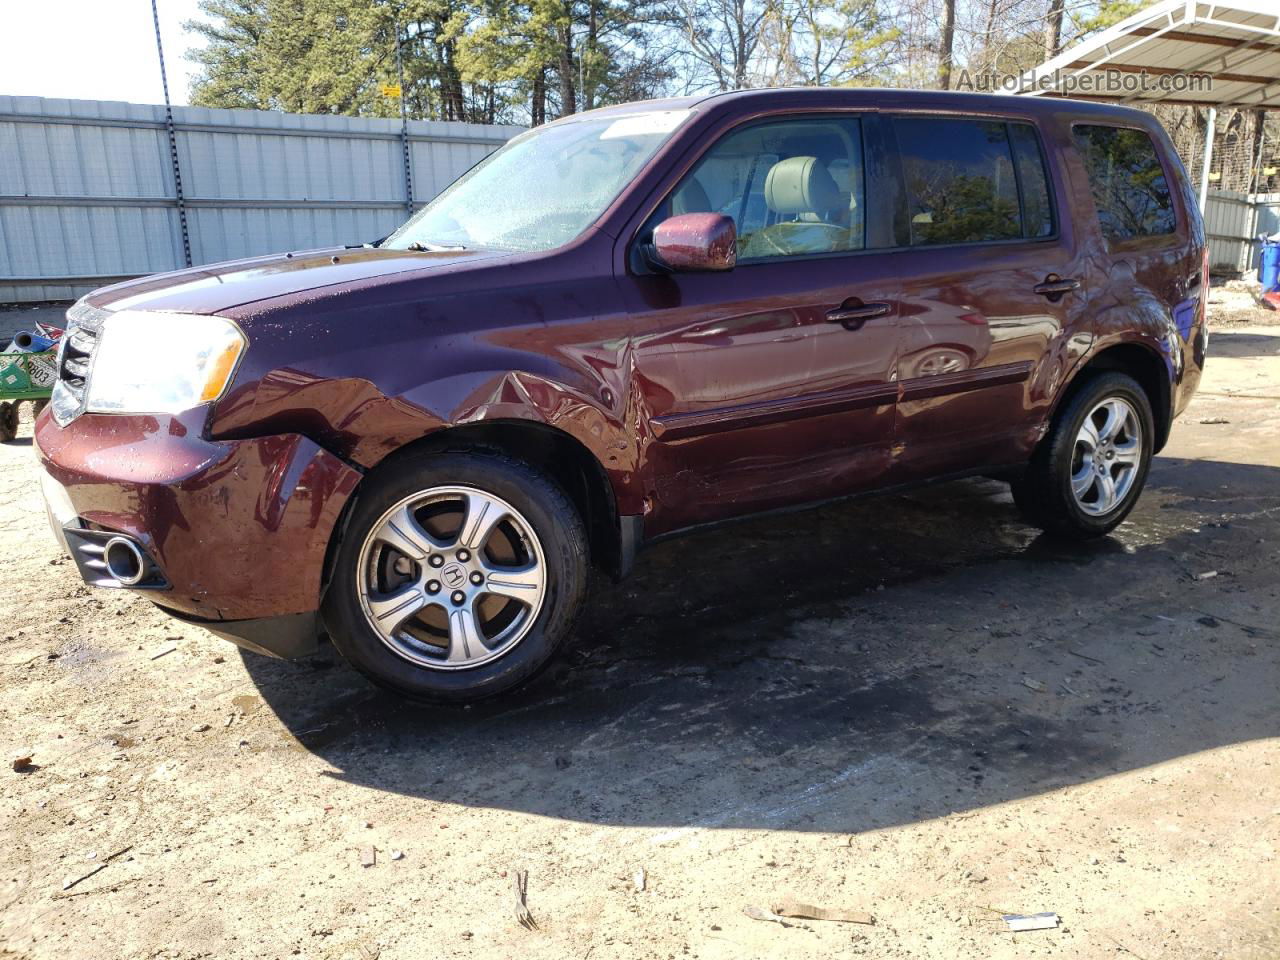
POLYGON ((988 474, 1106 534, 1199 380, 1206 294, 1137 110, 631 104, 378 243, 90 294, 36 443, 87 582, 466 700, 547 664, 591 566, 698 525, 988 474))

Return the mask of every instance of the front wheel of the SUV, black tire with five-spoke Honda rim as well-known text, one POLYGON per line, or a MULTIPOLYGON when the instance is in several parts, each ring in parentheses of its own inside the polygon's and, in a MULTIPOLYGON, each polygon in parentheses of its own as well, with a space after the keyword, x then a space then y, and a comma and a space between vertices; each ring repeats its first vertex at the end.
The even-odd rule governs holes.
POLYGON ((321 607, 352 667, 430 703, 495 696, 547 667, 589 566, 582 518, 556 484, 499 453, 415 453, 357 497, 321 607))

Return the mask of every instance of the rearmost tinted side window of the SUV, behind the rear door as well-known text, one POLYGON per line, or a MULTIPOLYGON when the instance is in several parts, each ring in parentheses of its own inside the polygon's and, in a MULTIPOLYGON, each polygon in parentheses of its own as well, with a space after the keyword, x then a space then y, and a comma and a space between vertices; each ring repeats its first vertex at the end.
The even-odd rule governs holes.
POLYGON ((1108 241, 1175 232, 1174 201, 1149 136, 1123 127, 1080 125, 1073 132, 1108 241))

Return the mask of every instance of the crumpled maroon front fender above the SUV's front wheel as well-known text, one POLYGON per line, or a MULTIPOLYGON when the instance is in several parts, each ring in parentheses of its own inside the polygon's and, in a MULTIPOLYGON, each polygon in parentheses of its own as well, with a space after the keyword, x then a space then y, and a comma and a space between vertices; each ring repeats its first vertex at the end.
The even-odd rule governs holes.
POLYGON ((253 305, 236 317, 250 348, 211 433, 301 433, 371 468, 442 430, 525 420, 585 447, 622 507, 637 462, 630 321, 594 248, 253 305))

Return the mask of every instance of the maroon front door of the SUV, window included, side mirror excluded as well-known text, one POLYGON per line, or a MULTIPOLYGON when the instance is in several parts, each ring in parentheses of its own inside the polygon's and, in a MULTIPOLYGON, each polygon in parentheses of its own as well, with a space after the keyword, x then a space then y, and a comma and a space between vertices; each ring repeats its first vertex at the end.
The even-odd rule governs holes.
POLYGON ((737 128, 649 229, 701 211, 733 218, 736 269, 622 278, 649 536, 874 486, 890 462, 899 291, 867 251, 859 118, 737 128))

